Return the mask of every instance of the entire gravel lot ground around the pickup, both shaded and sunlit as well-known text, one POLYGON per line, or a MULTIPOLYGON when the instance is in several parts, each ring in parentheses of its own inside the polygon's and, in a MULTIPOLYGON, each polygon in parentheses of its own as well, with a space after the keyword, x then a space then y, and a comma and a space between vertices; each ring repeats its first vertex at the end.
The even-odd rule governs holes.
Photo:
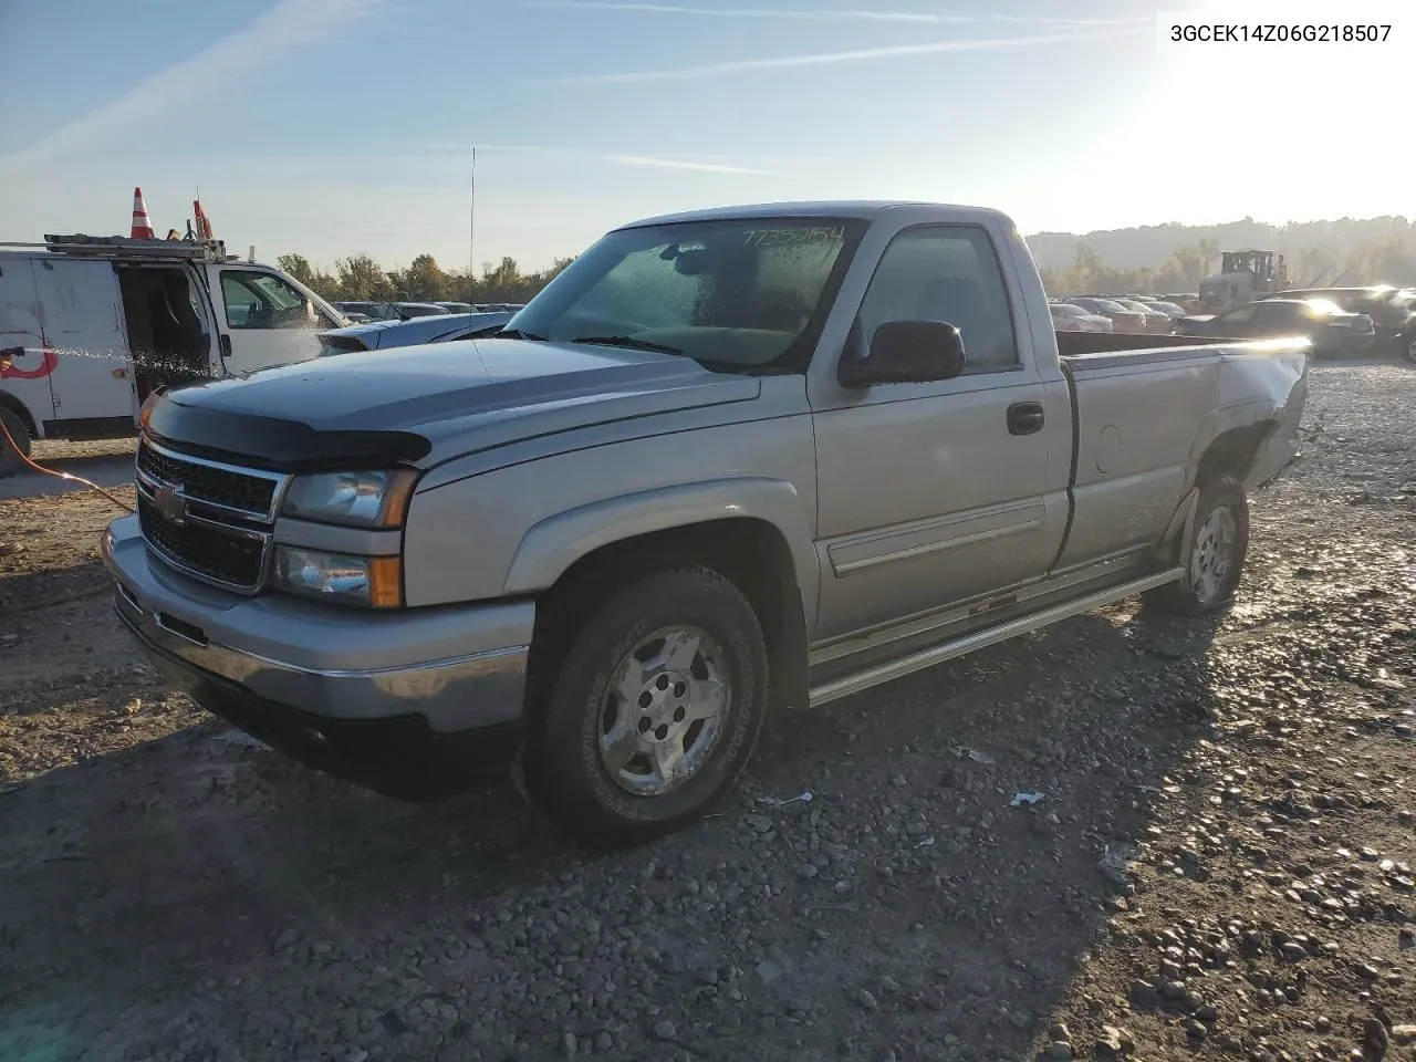
POLYGON ((82 596, 103 506, 0 501, 0 1059, 1416 1058, 1413 406, 1315 368, 1226 615, 776 719, 595 860, 204 719, 82 596))

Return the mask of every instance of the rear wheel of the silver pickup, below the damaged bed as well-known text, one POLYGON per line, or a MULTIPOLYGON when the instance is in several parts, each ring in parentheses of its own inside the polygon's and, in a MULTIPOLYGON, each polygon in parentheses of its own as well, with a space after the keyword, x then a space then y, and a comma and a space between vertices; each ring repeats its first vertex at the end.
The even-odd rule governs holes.
POLYGON ((1185 576, 1147 593, 1147 606, 1177 616, 1222 609, 1239 588, 1247 554, 1249 498, 1238 479, 1219 476, 1199 491, 1184 551, 1185 576), (1218 575, 1216 566, 1222 566, 1218 575))

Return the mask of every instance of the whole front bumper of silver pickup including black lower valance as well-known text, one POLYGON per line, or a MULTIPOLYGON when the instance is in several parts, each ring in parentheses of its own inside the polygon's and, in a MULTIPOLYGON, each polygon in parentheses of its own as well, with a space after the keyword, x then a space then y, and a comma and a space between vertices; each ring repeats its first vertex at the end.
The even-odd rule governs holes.
POLYGON ((330 775, 428 799, 494 780, 520 741, 530 600, 396 613, 242 598, 103 535, 115 610, 208 711, 330 775))

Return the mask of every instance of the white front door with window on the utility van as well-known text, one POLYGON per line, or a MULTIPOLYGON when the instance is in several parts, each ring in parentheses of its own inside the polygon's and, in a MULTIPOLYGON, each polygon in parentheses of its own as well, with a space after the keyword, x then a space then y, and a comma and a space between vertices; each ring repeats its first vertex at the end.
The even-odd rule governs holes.
POLYGON ((210 268, 217 313, 224 323, 227 372, 307 361, 320 353, 317 333, 337 329, 304 292, 261 266, 210 268))

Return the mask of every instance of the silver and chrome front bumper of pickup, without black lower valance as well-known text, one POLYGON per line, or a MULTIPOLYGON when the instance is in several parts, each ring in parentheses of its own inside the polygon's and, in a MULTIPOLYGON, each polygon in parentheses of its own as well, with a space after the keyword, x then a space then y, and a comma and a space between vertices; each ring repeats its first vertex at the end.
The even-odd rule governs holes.
POLYGON ((530 600, 379 613, 285 595, 241 598, 152 558, 136 517, 113 521, 102 555, 119 617, 188 688, 211 677, 319 719, 416 716, 435 735, 521 719, 530 600))

